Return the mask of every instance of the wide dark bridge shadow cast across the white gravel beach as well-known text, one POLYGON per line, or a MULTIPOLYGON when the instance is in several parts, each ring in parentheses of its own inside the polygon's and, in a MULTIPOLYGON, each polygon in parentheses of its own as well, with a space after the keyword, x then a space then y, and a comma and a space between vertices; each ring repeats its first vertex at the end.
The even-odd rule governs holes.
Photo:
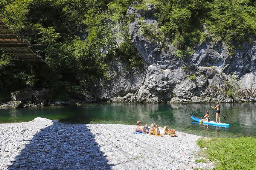
POLYGON ((35 134, 9 170, 110 170, 107 162, 86 125, 54 122, 35 134))

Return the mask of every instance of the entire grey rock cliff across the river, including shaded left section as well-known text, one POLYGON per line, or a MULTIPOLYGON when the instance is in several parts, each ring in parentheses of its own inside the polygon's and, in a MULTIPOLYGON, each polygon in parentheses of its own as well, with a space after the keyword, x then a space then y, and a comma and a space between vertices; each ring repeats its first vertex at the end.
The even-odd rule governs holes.
MULTIPOLYGON (((154 35, 158 23, 154 7, 128 8, 131 41, 145 69, 125 71, 125 63, 109 63, 109 81, 97 82, 91 92, 97 100, 129 101, 137 89, 137 102, 256 101, 256 39, 237 45, 233 54, 222 40, 213 38, 194 46, 186 58, 168 42, 154 35), (145 33, 145 25, 152 35, 145 33)), ((207 31, 207 30, 206 30, 207 31)))

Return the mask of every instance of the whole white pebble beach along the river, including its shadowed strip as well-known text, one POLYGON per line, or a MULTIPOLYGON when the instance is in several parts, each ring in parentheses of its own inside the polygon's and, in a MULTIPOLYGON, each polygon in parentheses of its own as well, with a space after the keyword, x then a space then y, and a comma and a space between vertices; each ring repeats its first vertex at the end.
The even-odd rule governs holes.
POLYGON ((134 125, 64 124, 46 118, 0 124, 0 169, 212 169, 195 163, 200 136, 132 134, 134 125))

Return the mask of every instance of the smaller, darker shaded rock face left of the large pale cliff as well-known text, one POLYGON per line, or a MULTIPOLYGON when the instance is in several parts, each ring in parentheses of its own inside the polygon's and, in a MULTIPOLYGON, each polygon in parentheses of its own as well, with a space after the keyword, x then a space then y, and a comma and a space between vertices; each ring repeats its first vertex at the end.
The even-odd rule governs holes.
POLYGON ((90 87, 97 101, 115 101, 116 97, 125 97, 128 93, 135 93, 143 85, 144 68, 130 70, 122 60, 115 60, 109 63, 108 67, 108 80, 94 82, 90 87))

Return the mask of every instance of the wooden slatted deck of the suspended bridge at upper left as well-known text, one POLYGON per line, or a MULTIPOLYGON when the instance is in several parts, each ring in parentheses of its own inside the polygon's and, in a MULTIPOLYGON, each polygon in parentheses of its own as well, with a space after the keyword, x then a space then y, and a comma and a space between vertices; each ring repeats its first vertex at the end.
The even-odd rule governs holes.
POLYGON ((0 17, 0 49, 16 59, 29 63, 44 62, 43 58, 32 51, 32 45, 24 43, 8 28, 0 17))

